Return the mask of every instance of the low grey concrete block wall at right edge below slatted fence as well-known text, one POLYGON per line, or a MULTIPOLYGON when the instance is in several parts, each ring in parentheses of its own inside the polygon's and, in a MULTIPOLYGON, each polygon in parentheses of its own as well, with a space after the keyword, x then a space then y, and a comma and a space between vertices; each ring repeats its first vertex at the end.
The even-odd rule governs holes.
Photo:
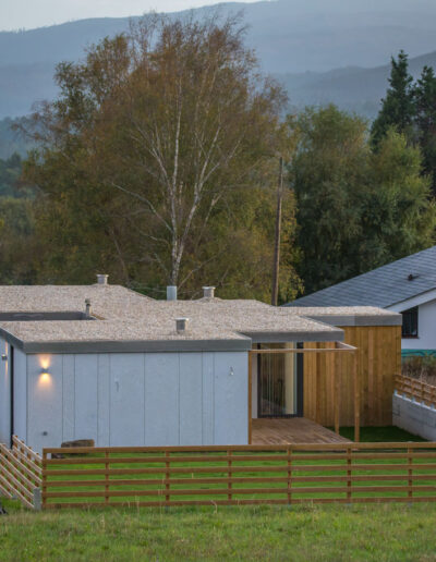
POLYGON ((436 410, 397 393, 392 396, 392 424, 415 436, 436 441, 436 410))

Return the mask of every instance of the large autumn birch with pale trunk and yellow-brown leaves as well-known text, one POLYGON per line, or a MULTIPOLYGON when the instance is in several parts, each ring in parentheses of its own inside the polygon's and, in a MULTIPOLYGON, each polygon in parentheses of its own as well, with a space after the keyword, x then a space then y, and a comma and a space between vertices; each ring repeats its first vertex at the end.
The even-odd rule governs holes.
POLYGON ((219 278, 232 292, 251 265, 247 293, 267 297, 286 98, 243 39, 238 19, 145 16, 58 66, 26 166, 45 194, 46 274, 83 281, 94 264, 126 284, 219 278))

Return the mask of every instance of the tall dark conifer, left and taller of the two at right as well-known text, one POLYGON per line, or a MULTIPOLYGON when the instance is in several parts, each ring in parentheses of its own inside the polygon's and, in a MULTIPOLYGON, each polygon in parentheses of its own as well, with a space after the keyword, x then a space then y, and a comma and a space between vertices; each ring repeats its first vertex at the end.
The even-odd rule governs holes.
POLYGON ((390 87, 382 100, 382 109, 374 121, 371 136, 373 147, 377 147, 389 129, 412 137, 415 114, 413 78, 409 74, 408 54, 401 50, 396 60, 391 58, 390 87))

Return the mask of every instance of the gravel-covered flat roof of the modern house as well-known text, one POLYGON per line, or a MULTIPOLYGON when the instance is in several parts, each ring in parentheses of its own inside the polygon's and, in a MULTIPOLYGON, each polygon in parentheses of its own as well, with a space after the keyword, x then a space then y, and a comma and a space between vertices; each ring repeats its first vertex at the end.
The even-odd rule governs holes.
MULTIPOLYGON (((340 315, 401 322, 400 315, 372 307, 341 308, 340 315)), ((245 351, 253 343, 342 341, 337 326, 328 314, 251 300, 156 301, 109 284, 0 286, 0 334, 26 353, 245 351), (84 313, 85 300, 95 320, 70 319, 84 313), (11 319, 17 313, 20 319, 11 319), (184 333, 175 331, 179 317, 190 319, 184 333)))

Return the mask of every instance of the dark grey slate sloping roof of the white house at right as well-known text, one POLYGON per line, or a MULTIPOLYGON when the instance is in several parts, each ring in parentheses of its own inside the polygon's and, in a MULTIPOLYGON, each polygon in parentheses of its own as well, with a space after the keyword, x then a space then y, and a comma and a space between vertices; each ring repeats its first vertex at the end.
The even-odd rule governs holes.
POLYGON ((436 246, 342 281, 286 306, 387 308, 436 289, 436 246))

